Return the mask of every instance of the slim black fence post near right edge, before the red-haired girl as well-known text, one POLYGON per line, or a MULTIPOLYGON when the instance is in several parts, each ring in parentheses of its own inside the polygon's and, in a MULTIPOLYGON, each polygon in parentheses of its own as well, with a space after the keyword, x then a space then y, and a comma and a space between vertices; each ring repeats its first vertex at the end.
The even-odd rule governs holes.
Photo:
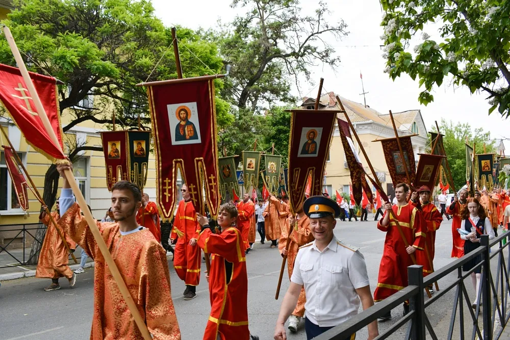
POLYGON ((492 304, 491 304, 491 253, 489 247, 489 235, 480 236, 480 244, 483 250, 483 274, 481 280, 481 295, 483 301, 483 339, 492 340, 492 304))

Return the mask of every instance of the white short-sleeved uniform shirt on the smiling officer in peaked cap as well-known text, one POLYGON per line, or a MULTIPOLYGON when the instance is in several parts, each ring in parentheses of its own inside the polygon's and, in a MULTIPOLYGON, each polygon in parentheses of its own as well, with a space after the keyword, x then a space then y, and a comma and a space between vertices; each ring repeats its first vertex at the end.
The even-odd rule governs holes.
POLYGON ((315 241, 301 247, 290 280, 304 285, 305 317, 320 327, 340 325, 358 314, 355 289, 370 284, 363 255, 336 237, 322 252, 315 241))

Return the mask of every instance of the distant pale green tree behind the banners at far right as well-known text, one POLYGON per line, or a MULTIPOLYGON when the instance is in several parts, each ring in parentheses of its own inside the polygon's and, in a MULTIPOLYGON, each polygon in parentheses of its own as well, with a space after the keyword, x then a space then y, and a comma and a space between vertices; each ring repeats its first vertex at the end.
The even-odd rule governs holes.
MULTIPOLYGON (((493 152, 494 141, 491 140, 490 132, 484 132, 482 128, 473 130, 468 123, 453 123, 451 120, 441 119, 439 129, 444 135, 445 152, 455 188, 461 188, 466 184, 466 137, 471 147, 473 143, 476 144, 477 154, 483 154, 483 144, 486 145, 487 153, 493 152)), ((436 127, 431 127, 431 131, 435 130, 436 127)))

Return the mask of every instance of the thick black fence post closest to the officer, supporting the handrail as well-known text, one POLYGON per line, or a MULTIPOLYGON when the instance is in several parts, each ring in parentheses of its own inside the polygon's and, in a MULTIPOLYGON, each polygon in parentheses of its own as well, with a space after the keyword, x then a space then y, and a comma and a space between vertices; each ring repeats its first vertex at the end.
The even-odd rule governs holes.
POLYGON ((410 286, 418 286, 418 293, 409 299, 410 311, 415 312, 411 324, 411 340, 425 340, 425 298, 423 297, 423 266, 407 267, 407 280, 410 286))

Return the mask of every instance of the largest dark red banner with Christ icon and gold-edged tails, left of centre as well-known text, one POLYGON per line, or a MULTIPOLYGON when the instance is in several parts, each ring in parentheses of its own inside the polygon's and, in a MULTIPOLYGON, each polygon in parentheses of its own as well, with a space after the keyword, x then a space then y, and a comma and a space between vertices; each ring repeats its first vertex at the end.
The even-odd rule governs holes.
POLYGON ((214 80, 176 79, 146 83, 155 135, 158 203, 165 218, 173 214, 177 170, 181 171, 197 212, 204 197, 212 216, 219 207, 218 151, 214 80))

